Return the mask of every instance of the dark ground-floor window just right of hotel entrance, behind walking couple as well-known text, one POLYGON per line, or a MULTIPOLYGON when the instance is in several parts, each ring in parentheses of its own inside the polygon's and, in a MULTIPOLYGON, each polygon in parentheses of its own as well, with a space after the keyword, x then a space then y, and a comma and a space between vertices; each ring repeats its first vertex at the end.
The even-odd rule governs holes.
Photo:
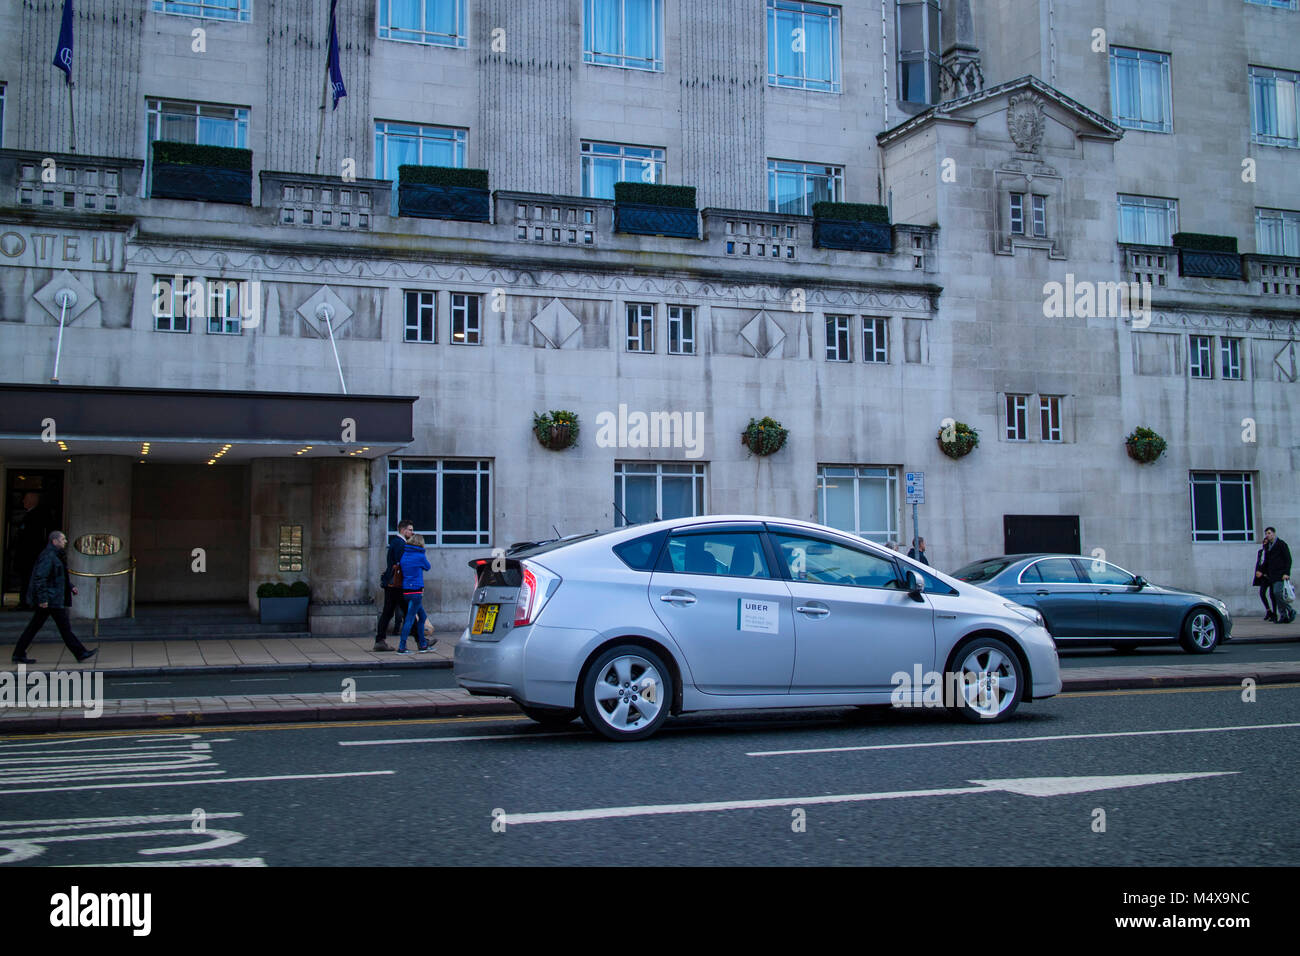
POLYGON ((389 522, 415 523, 429 548, 491 541, 491 462, 390 458, 389 522))

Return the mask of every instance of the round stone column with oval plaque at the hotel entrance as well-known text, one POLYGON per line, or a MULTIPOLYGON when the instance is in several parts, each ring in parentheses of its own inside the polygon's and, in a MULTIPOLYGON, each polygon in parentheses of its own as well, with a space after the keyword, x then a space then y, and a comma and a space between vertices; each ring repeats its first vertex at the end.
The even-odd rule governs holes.
MULTIPOLYGON (((131 466, 127 455, 73 455, 68 470, 68 567, 72 571, 103 574, 127 567, 131 557, 131 466), (82 554, 75 542, 82 535, 113 535, 122 542, 116 554, 82 554)), ((72 576, 79 592, 73 598, 74 618, 95 617, 95 579, 72 576)), ((126 617, 130 604, 130 575, 100 579, 99 617, 126 617)))

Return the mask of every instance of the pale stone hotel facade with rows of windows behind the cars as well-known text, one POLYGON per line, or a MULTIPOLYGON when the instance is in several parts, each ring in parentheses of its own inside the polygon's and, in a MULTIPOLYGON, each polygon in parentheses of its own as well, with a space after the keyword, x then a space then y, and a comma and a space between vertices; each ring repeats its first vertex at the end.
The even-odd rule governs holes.
MULTIPOLYGON (((303 579, 312 628, 352 632, 410 512, 425 604, 459 628, 489 548, 629 511, 906 540, 923 471, 942 568, 1052 545, 1256 606, 1262 528, 1300 522, 1300 251, 1257 247, 1291 228, 1273 213, 1300 207, 1300 151, 1252 96, 1300 70, 1300 12, 1216 0, 1166 38, 1173 0, 627 0, 649 26, 611 49, 608 0, 420 7, 416 34, 339 4, 347 95, 322 117, 324 0, 83 5, 75 151, 61 4, 4 7, 6 533, 46 483, 72 537, 120 542, 74 567, 134 557, 142 601, 303 579), (1118 101, 1130 82, 1154 118, 1118 101), (396 215, 412 127, 436 164, 489 170, 488 221, 396 215), (152 195, 166 135, 252 150, 250 202, 152 195), (696 238, 620 230, 585 189, 598 147, 694 186, 696 238), (887 245, 828 247, 774 200, 792 176, 887 206, 887 245), (1242 252, 1206 263, 1174 232, 1242 252), (533 434, 556 408, 581 423, 563 451, 533 434), (740 436, 763 416, 789 438, 755 457, 740 436), (941 453, 948 420, 979 431, 970 455, 941 453), (1167 440, 1152 464, 1126 454, 1139 425, 1167 440)), ((5 575, 12 601, 8 551, 5 575)))

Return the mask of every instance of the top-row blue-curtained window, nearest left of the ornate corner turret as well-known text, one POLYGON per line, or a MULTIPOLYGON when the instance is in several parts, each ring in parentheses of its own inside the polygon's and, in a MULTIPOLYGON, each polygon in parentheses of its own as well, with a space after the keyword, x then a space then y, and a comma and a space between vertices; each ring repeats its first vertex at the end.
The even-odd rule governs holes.
POLYGON ((767 0, 767 82, 840 92, 840 8, 767 0))

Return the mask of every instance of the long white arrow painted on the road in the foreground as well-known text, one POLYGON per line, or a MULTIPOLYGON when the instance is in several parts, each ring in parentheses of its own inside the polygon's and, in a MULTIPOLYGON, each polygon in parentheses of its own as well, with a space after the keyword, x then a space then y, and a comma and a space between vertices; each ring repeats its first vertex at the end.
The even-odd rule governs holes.
POLYGON ((507 813, 500 817, 507 826, 523 823, 571 823, 588 819, 612 819, 620 817, 650 817, 668 813, 719 813, 724 810, 753 810, 770 806, 811 806, 816 804, 850 804, 868 800, 902 800, 924 796, 965 796, 967 793, 1020 793, 1023 796, 1058 796, 1062 793, 1086 793, 1098 790, 1119 790, 1123 787, 1144 787, 1153 783, 1191 780, 1200 777, 1225 777, 1236 770, 1196 773, 1196 774, 1127 774, 1118 777, 1028 777, 1006 780, 971 780, 975 787, 954 787, 949 790, 904 790, 881 793, 832 793, 802 797, 775 797, 770 800, 722 800, 701 804, 649 804, 642 806, 603 806, 590 810, 547 810, 541 813, 507 813))

